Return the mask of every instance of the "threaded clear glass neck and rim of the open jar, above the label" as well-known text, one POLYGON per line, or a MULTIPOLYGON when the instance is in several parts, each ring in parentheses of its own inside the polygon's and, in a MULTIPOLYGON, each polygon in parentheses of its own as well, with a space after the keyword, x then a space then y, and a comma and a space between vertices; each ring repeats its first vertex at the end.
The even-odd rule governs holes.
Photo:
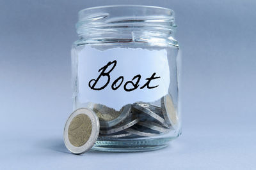
POLYGON ((150 6, 103 6, 79 12, 77 34, 89 43, 168 43, 174 38, 172 10, 150 6))

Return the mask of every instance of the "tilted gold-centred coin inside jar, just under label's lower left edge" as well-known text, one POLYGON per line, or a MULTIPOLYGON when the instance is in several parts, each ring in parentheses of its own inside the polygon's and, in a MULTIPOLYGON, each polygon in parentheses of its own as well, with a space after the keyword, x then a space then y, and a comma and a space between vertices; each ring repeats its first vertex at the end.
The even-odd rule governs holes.
POLYGON ((120 111, 104 106, 103 104, 93 104, 92 110, 95 111, 100 120, 100 128, 113 127, 124 120, 131 112, 131 104, 125 105, 120 111))

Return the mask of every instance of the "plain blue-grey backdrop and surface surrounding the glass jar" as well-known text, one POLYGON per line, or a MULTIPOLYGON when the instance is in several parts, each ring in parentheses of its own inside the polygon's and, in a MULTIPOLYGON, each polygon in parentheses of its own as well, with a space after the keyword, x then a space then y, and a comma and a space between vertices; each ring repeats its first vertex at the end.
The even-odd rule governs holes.
POLYGON ((249 0, 0 0, 0 169, 256 169, 255 9, 249 0), (63 144, 77 12, 107 4, 176 13, 183 134, 164 150, 77 156, 63 144))

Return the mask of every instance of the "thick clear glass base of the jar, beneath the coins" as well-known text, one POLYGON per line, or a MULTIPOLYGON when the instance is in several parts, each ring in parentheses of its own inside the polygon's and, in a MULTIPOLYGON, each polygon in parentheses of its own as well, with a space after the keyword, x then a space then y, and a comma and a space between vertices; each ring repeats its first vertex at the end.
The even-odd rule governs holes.
POLYGON ((168 146, 173 138, 156 138, 156 139, 109 139, 100 140, 95 143, 92 150, 102 152, 147 152, 159 150, 168 146))

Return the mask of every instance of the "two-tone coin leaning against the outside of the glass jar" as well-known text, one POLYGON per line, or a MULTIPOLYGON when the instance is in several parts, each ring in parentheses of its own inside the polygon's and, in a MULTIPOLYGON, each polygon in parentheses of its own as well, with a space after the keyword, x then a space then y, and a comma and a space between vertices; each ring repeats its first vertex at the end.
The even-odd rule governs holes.
POLYGON ((80 108, 68 117, 64 128, 64 143, 70 152, 84 153, 94 145, 99 129, 99 118, 94 111, 80 108))

